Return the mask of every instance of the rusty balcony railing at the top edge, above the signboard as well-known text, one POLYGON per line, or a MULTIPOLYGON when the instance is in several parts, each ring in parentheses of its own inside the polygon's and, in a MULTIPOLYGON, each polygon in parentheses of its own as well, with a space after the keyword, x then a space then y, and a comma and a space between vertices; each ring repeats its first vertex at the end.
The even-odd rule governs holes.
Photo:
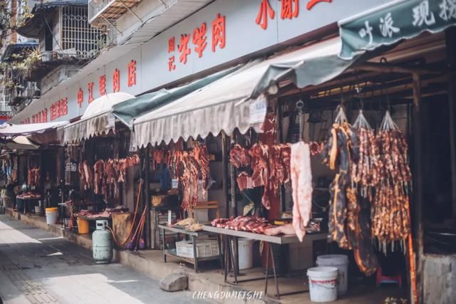
POLYGON ((88 23, 100 27, 112 25, 141 0, 88 0, 88 23))

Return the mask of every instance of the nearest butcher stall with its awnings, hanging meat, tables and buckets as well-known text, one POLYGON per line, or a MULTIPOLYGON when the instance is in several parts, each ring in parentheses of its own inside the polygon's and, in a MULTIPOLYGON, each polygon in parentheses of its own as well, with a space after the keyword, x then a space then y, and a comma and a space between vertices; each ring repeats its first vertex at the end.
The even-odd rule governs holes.
POLYGON ((146 114, 125 107, 141 98, 115 105, 155 184, 152 248, 284 303, 309 289, 318 300, 320 287, 326 301, 450 303, 430 281, 450 276, 430 265, 454 253, 456 20, 445 7, 393 1, 339 21, 339 36, 150 95, 146 114))

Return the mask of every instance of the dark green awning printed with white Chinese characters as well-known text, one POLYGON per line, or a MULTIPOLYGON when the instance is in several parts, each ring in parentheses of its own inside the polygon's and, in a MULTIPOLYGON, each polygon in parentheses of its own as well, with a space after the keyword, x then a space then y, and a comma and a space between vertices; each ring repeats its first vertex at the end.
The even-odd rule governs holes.
POLYGON ((339 21, 340 57, 351 59, 425 31, 438 33, 456 25, 456 0, 398 0, 339 21))

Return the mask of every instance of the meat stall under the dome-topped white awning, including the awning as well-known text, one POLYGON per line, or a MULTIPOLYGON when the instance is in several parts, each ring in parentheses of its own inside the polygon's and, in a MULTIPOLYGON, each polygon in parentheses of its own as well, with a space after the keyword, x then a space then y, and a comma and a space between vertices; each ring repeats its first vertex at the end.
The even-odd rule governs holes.
POLYGON ((90 103, 81 120, 64 129, 69 194, 61 207, 66 210, 66 227, 77 227, 79 234, 89 234, 95 220, 106 219, 113 227, 113 214, 139 212, 134 200, 138 192, 139 201, 141 191, 135 189, 140 157, 130 153, 129 131, 112 115, 113 105, 131 98, 127 93, 103 95, 90 103))

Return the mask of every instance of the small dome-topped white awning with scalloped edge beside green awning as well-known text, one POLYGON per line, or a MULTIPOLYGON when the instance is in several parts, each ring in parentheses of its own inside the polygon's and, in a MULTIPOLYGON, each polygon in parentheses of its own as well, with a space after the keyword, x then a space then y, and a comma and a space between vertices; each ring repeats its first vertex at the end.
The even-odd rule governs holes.
POLYGON ((118 92, 103 95, 88 105, 81 120, 67 125, 64 129, 64 142, 78 142, 96 135, 108 134, 115 130, 113 105, 135 98, 128 93, 118 92))

